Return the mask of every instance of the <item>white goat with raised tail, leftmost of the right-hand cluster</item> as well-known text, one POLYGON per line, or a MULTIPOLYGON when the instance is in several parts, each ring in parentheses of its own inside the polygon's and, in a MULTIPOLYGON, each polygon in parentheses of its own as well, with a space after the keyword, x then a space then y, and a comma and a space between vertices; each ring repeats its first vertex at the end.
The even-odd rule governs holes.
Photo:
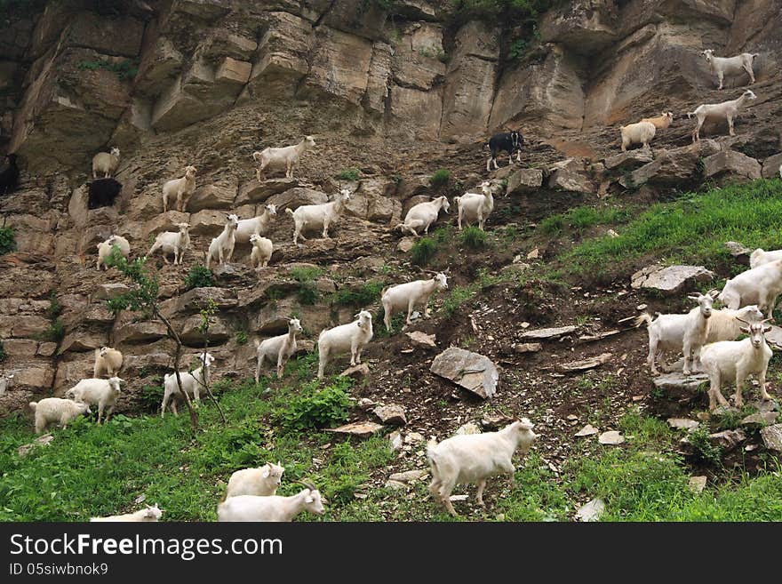
POLYGON ((684 315, 659 315, 652 320, 649 313, 644 312, 635 319, 635 326, 648 324, 649 331, 649 356, 646 362, 649 364, 652 374, 658 375, 657 359, 665 369, 662 361, 662 352, 682 351, 684 354, 684 374, 690 375, 698 360, 700 348, 706 343, 708 333, 708 319, 712 316, 712 304, 717 291, 708 294, 688 296, 690 300, 697 300, 698 306, 692 308, 684 315))

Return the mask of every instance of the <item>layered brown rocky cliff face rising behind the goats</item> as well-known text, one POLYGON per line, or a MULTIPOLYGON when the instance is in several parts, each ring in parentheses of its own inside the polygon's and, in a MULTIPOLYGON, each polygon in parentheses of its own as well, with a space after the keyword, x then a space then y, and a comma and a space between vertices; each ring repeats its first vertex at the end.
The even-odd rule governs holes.
MULTIPOLYGON (((196 252, 183 267, 159 266, 166 314, 195 348, 197 300, 216 300, 210 343, 220 369, 244 374, 251 350, 236 331, 282 332, 295 310, 317 332, 352 314, 300 305, 291 262, 330 266, 317 282, 324 293, 377 278, 384 258, 402 265, 386 257, 395 249, 388 226, 427 194, 427 173, 438 166, 465 185, 482 178, 480 141, 503 124, 523 128, 526 165, 541 169, 509 177, 516 195, 541 183, 552 194, 591 195, 690 186, 712 156, 721 157, 706 164, 707 177, 753 177, 772 172, 782 150, 780 0, 564 3, 539 19, 539 42, 519 58, 508 50, 519 34, 512 22, 457 18, 445 0, 386 4, 62 0, 4 15, 0 148, 18 153, 24 171, 20 191, 0 200, 18 244, 0 259, 0 337, 10 356, 0 366, 17 373, 14 404, 34 392, 59 394, 90 374, 92 349, 103 344, 128 355, 126 378, 170 366, 160 325, 105 308, 124 285, 92 263, 95 244, 110 233, 143 253, 151 236, 189 220, 196 252), (730 85, 714 90, 698 54, 704 48, 759 52, 758 100, 741 116, 737 138, 692 149, 684 112, 738 95, 730 85), (653 143, 665 153, 608 156, 618 151, 619 124, 662 110, 675 115, 653 143), (301 180, 252 180, 253 150, 304 133, 315 134, 318 148, 302 159, 301 180), (122 152, 123 192, 115 206, 88 211, 90 161, 108 146, 122 152), (161 185, 186 164, 198 168, 199 188, 187 212, 162 214, 161 185), (203 260, 227 210, 250 217, 259 204, 323 202, 347 167, 359 168, 362 180, 351 185, 337 243, 292 246, 283 214, 271 231, 277 267, 260 282, 231 267, 219 270, 218 288, 183 293, 189 266, 203 260), (39 340, 52 322, 52 293, 63 307, 59 344, 39 340)), ((241 248, 236 258, 246 264, 248 255, 241 248)))

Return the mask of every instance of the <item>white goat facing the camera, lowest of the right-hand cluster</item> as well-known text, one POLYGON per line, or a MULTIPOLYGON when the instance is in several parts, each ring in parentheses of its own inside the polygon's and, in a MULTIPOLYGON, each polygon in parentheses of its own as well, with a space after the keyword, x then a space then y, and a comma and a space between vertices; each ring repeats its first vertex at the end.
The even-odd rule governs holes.
POLYGON ((700 350, 700 362, 709 377, 710 410, 716 409, 717 402, 728 405, 727 400, 722 396, 723 380, 736 380, 733 404, 738 408, 744 405, 741 386, 744 385, 744 381, 750 373, 757 375, 762 398, 764 400, 771 399, 766 391, 766 371, 769 368, 772 352, 763 337, 763 333, 769 332, 771 327, 766 326, 765 322, 765 320, 752 324, 745 322, 744 324, 747 326, 742 326, 741 332, 749 334, 747 339, 721 340, 710 343, 700 350))

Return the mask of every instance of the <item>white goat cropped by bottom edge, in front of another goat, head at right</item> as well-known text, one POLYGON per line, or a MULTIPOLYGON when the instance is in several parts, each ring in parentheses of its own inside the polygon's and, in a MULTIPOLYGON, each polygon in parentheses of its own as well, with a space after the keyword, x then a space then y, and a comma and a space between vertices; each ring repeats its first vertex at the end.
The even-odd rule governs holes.
POLYGON ((307 488, 291 497, 238 495, 217 506, 218 521, 292 521, 302 511, 323 515, 328 502, 315 488, 307 488))

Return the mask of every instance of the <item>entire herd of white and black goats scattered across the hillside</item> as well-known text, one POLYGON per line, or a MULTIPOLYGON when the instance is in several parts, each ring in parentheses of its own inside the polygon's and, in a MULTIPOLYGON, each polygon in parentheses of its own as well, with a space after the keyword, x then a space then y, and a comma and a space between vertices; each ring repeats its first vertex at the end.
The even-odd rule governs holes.
MULTIPOLYGON (((744 53, 730 59, 714 57, 710 50, 704 51, 716 73, 720 89, 723 76, 735 75, 746 71, 750 83, 754 83, 752 63, 756 54, 744 53)), ((725 119, 728 122, 730 135, 733 135, 733 119, 745 100, 754 100, 753 92, 746 90, 737 100, 720 104, 701 105, 688 116, 697 116, 697 124, 692 132, 693 141, 699 139, 699 130, 707 118, 725 119)), ((637 124, 621 127, 622 150, 633 144, 648 147, 658 128, 666 128, 671 124, 673 114, 667 112, 654 118, 644 118, 637 124)), ((507 132, 491 137, 487 147, 491 156, 487 160, 486 170, 491 170, 491 164, 498 168, 497 156, 506 151, 513 164, 513 155, 521 162, 523 136, 521 132, 507 132)), ((307 149, 315 148, 312 136, 305 136, 298 144, 285 148, 265 148, 254 152, 252 158, 259 163, 257 179, 264 179, 264 170, 268 166, 284 166, 285 176, 291 177, 293 167, 298 163, 307 149)), ((112 148, 110 153, 101 152, 92 159, 92 177, 98 181, 111 179, 119 162, 119 149, 112 148)), ((15 166, 15 156, 8 155, 12 163, 11 177, 15 183, 18 180, 18 169, 15 166)), ((169 200, 175 200, 175 208, 184 211, 188 197, 195 191, 195 166, 187 166, 183 177, 168 180, 163 185, 163 211, 168 210, 169 200)), ((782 169, 780 169, 782 172, 782 169)), ((93 185, 95 183, 92 183, 93 185)), ((108 198, 119 191, 119 183, 109 184, 111 190, 108 198)), ((15 185, 14 185, 15 186, 15 185)), ((121 186, 120 186, 121 187, 121 186)), ((462 223, 477 223, 478 228, 484 228, 485 221, 494 208, 493 195, 499 188, 499 181, 486 180, 481 184, 480 193, 467 192, 454 198, 458 206, 458 226, 462 223)), ((13 188, 13 187, 12 187, 13 188)), ((91 186, 90 204, 100 204, 100 193, 93 193, 91 186), (94 195, 94 196, 93 196, 94 195)), ((294 231, 293 244, 299 244, 299 238, 307 241, 302 232, 321 231, 324 238, 329 237, 329 228, 339 220, 345 204, 350 200, 350 191, 341 189, 331 202, 325 204, 307 204, 299 206, 295 211, 286 209, 291 214, 294 231)), ((438 196, 434 200, 416 204, 405 215, 402 223, 394 229, 420 236, 428 233, 435 223, 439 212, 449 212, 450 203, 446 196, 438 196)), ((263 236, 269 224, 276 218, 274 204, 263 206, 263 211, 254 218, 239 220, 235 214, 227 216, 227 223, 219 236, 211 240, 205 254, 205 265, 211 268, 213 262, 219 264, 230 262, 235 244, 251 244, 251 266, 259 270, 267 266, 274 250, 273 243, 263 236)), ((181 264, 184 253, 190 245, 188 235, 189 224, 176 224, 178 231, 166 231, 156 236, 155 243, 147 255, 160 250, 164 261, 169 262, 172 254, 174 264, 181 264)), ((125 258, 131 252, 127 239, 112 235, 98 244, 97 268, 108 268, 109 254, 117 249, 125 258)), ((440 290, 448 287, 447 276, 436 274, 431 279, 416 280, 406 284, 397 284, 381 292, 380 301, 385 310, 384 324, 390 330, 391 318, 395 313, 407 310, 406 323, 411 323, 411 315, 416 308, 423 309, 427 318, 428 300, 440 290)), ((714 410, 717 403, 727 405, 722 396, 720 386, 723 380, 735 380, 736 393, 733 401, 736 406, 742 405, 741 387, 750 373, 757 375, 763 399, 770 399, 765 389, 765 374, 770 361, 771 350, 763 335, 770 331, 765 323, 770 320, 778 295, 782 293, 782 250, 763 252, 756 250, 752 254, 751 268, 736 276, 725 284, 725 288, 717 296, 717 291, 690 296, 698 306, 687 314, 660 315, 653 319, 649 314, 638 316, 635 324, 648 324, 649 356, 648 363, 654 374, 658 373, 658 356, 663 350, 682 351, 684 355, 683 372, 689 375, 699 368, 709 377, 710 408, 714 410), (727 306, 714 310, 712 304, 719 298, 727 306), (752 303, 752 304, 751 304, 752 303), (765 313, 765 315, 764 315, 765 313), (763 316, 767 316, 763 318, 763 316), (745 340, 735 340, 742 332, 749 334, 745 340)), ((334 356, 350 354, 350 364, 361 363, 363 348, 371 341, 372 316, 367 310, 361 310, 354 322, 342 324, 323 330, 318 337, 318 379, 323 378, 324 370, 334 356)), ((296 336, 302 326, 297 318, 291 318, 288 332, 263 341, 256 340, 257 366, 255 380, 259 380, 265 361, 276 368, 278 377, 283 376, 284 366, 297 350, 296 336)), ((172 412, 177 414, 177 400, 182 396, 180 391, 186 391, 193 396, 194 405, 200 403, 200 389, 209 384, 211 364, 214 357, 209 353, 198 356, 200 366, 194 371, 180 372, 179 382, 174 373, 164 377, 164 398, 161 404, 161 416, 170 403, 172 412)), ((103 347, 95 351, 94 377, 79 381, 76 386, 68 389, 66 399, 49 397, 39 402, 31 402, 30 407, 35 412, 36 433, 41 433, 50 423, 58 423, 65 427, 70 420, 91 412, 90 406, 97 405, 98 421, 106 420, 111 415, 117 397, 121 393, 120 384, 124 380, 117 377, 124 361, 122 353, 115 348, 103 347), (108 379, 103 379, 107 377, 108 379), (105 412, 105 418, 104 418, 105 412)), ((516 420, 498 432, 486 432, 478 435, 452 436, 437 444, 434 440, 427 445, 427 459, 432 472, 430 492, 435 500, 442 503, 451 513, 456 515, 450 495, 456 484, 472 483, 478 485, 477 501, 483 505, 483 489, 486 479, 498 474, 507 474, 513 482, 515 467, 512 457, 516 450, 529 451, 537 437, 532 432, 530 420, 516 420)), ((275 495, 281 484, 284 468, 273 463, 267 463, 261 468, 245 468, 236 471, 227 485, 226 497, 218 506, 219 521, 291 521, 302 510, 316 515, 323 514, 323 503, 326 501, 317 491, 314 484, 305 483, 305 489, 291 497, 275 495)), ((92 521, 157 521, 163 510, 155 507, 140 509, 135 513, 121 516, 94 517, 92 521)))

